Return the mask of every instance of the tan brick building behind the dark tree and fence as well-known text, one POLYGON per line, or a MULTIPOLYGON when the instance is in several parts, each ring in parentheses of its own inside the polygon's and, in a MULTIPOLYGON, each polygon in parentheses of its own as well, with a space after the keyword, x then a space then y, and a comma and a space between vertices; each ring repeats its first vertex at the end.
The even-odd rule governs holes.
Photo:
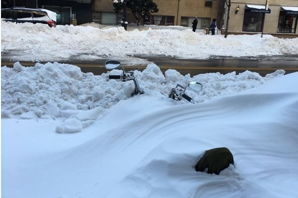
MULTIPOLYGON (((179 25, 191 27, 194 17, 198 18, 198 29, 209 27, 213 18, 218 14, 217 0, 153 0, 159 11, 151 14, 151 18, 142 21, 147 25, 179 25)), ((94 0, 93 22, 101 24, 116 24, 121 21, 121 13, 115 13, 112 0, 94 0)), ((128 23, 135 19, 128 12, 128 23)))

